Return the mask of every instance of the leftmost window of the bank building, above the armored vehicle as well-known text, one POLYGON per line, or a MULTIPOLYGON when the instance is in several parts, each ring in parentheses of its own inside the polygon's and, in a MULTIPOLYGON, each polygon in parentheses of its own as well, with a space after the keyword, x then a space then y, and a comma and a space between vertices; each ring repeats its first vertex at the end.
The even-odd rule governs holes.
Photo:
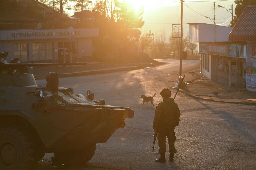
POLYGON ((27 43, 14 44, 14 57, 20 58, 20 61, 28 61, 28 44, 27 43))

